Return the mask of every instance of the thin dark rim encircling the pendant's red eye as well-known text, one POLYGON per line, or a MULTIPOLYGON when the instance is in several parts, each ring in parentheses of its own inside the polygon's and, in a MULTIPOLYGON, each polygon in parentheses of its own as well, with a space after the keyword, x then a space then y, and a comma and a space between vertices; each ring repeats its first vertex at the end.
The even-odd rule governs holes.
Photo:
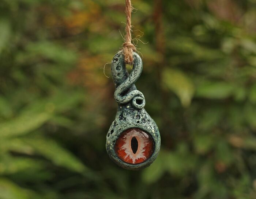
MULTIPOLYGON (((138 126, 135 126, 135 127, 131 127, 131 128, 127 128, 127 129, 123 130, 123 131, 118 135, 118 137, 117 137, 117 139, 116 139, 116 141, 115 141, 115 143, 114 143, 113 149, 114 149, 113 151, 114 151, 114 153, 115 153, 115 155, 116 155, 116 157, 117 157, 118 160, 120 160, 121 162, 123 162, 123 163, 125 163, 125 164, 128 164, 128 165, 133 166, 133 165, 144 164, 146 161, 150 160, 150 159, 153 157, 153 155, 155 154, 156 147, 155 147, 155 140, 153 139, 151 133, 149 133, 148 131, 146 131, 146 130, 144 130, 144 129, 142 129, 142 128, 139 128, 138 126), (148 135, 148 137, 150 137, 150 139, 151 139, 151 141, 152 141, 152 144, 153 144, 152 154, 151 154, 150 157, 148 157, 146 160, 144 160, 144 161, 141 162, 141 163, 135 163, 135 164, 127 163, 127 162, 125 162, 124 160, 122 160, 120 157, 118 157, 118 155, 117 155, 117 153, 116 153, 116 144, 117 144, 117 140, 121 137, 121 135, 122 135, 123 133, 125 133, 125 132, 128 131, 129 129, 139 129, 139 130, 141 130, 142 132, 146 133, 146 134, 148 135)), ((159 150, 158 150, 158 151, 159 151, 159 150)), ((157 154, 158 154, 158 153, 157 153, 157 154)), ((153 160, 153 161, 154 161, 154 160, 153 160)), ((124 167, 124 168, 126 168, 126 167, 124 167)))

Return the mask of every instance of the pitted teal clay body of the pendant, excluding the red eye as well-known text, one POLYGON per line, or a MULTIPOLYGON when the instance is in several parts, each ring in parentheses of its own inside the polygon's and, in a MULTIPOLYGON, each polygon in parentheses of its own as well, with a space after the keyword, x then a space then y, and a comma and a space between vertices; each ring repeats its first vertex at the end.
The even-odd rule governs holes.
POLYGON ((144 109, 146 103, 144 95, 134 85, 142 73, 142 59, 136 52, 133 52, 133 69, 128 74, 125 67, 124 55, 120 51, 113 58, 111 70, 116 86, 114 98, 118 103, 118 108, 116 118, 106 136, 106 150, 110 158, 120 167, 131 170, 148 167, 157 158, 161 138, 157 125, 144 109), (130 128, 144 130, 154 141, 154 152, 152 156, 140 164, 125 163, 117 157, 114 151, 116 140, 120 134, 130 128))

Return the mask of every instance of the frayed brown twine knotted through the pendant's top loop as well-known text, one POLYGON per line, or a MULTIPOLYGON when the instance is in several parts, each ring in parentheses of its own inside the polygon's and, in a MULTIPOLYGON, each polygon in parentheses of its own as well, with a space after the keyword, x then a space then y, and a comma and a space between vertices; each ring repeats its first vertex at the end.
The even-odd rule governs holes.
POLYGON ((125 13, 126 13, 126 27, 125 27, 125 42, 123 43, 123 53, 124 61, 127 64, 133 64, 133 51, 136 51, 136 47, 132 44, 131 35, 131 13, 132 13, 132 3, 131 0, 125 0, 125 13))

